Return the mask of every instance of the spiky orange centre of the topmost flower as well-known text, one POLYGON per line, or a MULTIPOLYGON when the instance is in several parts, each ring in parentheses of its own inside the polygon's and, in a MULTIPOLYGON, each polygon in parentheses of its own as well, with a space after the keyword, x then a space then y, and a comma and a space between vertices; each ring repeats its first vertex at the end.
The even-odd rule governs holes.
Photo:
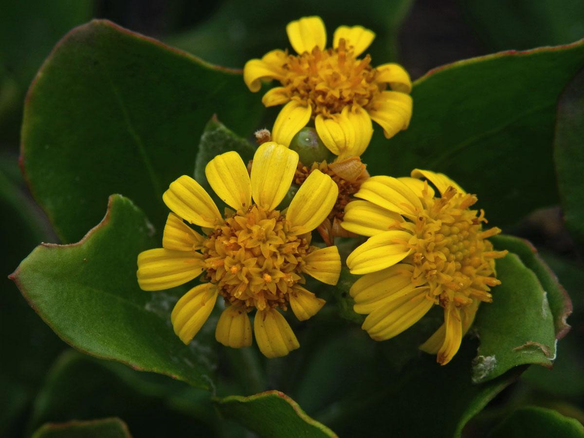
POLYGON ((318 114, 329 117, 347 105, 366 107, 385 88, 375 82, 377 71, 370 62, 369 55, 362 60, 354 57, 340 39, 336 49, 315 47, 312 53, 288 55, 281 84, 290 99, 311 105, 313 119, 318 114))

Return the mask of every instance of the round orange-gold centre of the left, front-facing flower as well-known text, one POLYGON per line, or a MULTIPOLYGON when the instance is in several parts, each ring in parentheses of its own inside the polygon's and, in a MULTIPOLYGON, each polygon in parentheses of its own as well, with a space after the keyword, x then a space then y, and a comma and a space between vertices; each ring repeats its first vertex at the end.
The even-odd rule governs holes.
POLYGON ((226 303, 245 310, 281 307, 304 283, 304 258, 314 247, 310 234, 290 234, 290 223, 276 210, 253 205, 216 225, 203 243, 206 279, 217 284, 226 303))

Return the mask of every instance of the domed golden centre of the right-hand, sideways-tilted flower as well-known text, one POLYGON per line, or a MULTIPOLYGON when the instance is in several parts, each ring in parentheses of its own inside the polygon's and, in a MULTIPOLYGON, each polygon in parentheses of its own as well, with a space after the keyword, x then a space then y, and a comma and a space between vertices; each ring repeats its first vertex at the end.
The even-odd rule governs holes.
MULTIPOLYGON (((472 298, 491 302, 489 287, 500 284, 495 279, 495 260, 505 251, 493 251, 486 238, 499 228, 483 231, 484 211, 469 210, 477 197, 457 193, 449 187, 441 198, 427 194, 425 210, 417 212, 411 225, 415 238, 409 242, 414 252, 406 258, 414 266, 412 279, 429 286, 429 298, 447 307, 464 307, 472 298)), ((408 225, 402 224, 407 227, 408 225)))

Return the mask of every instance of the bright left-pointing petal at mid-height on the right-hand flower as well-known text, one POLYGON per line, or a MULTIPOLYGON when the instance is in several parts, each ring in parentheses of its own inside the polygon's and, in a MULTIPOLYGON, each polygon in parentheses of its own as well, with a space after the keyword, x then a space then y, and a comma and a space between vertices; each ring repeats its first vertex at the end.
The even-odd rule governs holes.
POLYGON ((401 262, 412 249, 408 242, 412 235, 406 231, 385 231, 367 239, 347 257, 347 266, 352 274, 369 274, 401 262))

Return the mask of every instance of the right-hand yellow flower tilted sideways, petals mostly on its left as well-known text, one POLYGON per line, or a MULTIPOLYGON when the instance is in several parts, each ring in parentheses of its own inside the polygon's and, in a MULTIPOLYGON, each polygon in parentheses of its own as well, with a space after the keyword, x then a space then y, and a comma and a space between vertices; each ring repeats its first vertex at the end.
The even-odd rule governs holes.
POLYGON ((470 210, 477 197, 442 173, 412 171, 412 178, 373 176, 345 208, 347 231, 370 236, 347 258, 364 274, 350 294, 354 311, 367 314, 363 329, 375 340, 390 339, 417 322, 432 305, 444 308, 444 324, 420 348, 445 365, 456 354, 480 301, 490 303, 495 259, 482 230, 484 211, 470 210), (439 190, 434 190, 426 178, 439 190))

